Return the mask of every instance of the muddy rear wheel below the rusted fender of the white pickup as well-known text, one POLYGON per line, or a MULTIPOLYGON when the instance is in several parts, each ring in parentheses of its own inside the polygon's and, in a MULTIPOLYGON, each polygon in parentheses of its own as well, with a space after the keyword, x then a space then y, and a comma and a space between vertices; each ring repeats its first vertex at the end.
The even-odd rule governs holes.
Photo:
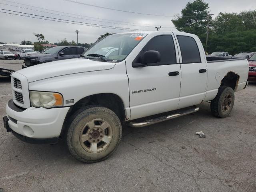
POLYGON ((211 101, 212 114, 220 118, 227 117, 233 109, 234 102, 234 90, 228 86, 220 86, 218 94, 211 101))

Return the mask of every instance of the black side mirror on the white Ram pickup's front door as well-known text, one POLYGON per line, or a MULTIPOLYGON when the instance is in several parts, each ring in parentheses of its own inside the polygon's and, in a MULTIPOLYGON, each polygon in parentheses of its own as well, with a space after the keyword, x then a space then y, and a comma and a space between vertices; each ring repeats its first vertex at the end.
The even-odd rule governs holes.
POLYGON ((158 51, 146 51, 142 54, 142 57, 140 59, 140 63, 133 63, 132 67, 144 67, 147 66, 147 64, 150 63, 158 63, 161 60, 160 52, 158 51))

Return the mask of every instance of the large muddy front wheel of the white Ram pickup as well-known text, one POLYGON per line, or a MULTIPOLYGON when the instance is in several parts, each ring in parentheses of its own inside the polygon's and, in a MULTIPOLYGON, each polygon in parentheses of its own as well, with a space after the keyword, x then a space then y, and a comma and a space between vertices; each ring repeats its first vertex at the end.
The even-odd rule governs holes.
POLYGON ((66 140, 72 156, 94 163, 111 156, 121 137, 122 125, 112 110, 88 106, 71 117, 66 140))

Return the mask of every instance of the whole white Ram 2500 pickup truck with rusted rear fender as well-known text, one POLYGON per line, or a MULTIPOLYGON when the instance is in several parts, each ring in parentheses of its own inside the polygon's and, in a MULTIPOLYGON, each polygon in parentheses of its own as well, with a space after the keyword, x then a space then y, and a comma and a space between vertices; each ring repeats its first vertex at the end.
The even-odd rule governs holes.
POLYGON ((247 85, 248 61, 210 60, 193 34, 113 34, 81 58, 14 72, 4 126, 30 143, 64 138, 83 162, 104 160, 118 146, 122 124, 148 126, 196 112, 208 101, 215 116, 228 116, 234 92, 247 85))

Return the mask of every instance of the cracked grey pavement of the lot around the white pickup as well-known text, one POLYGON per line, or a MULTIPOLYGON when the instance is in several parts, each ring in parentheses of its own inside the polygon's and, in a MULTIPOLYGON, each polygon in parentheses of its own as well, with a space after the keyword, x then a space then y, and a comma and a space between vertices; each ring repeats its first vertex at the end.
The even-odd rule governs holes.
MULTIPOLYGON (((22 60, 0 60, 20 69, 22 60)), ((12 98, 10 78, 0 76, 0 188, 34 191, 256 191, 256 83, 237 92, 232 113, 200 111, 144 128, 123 128, 113 156, 95 164, 75 160, 64 141, 27 144, 3 127, 12 98), (195 135, 203 131, 206 138, 195 135)))

